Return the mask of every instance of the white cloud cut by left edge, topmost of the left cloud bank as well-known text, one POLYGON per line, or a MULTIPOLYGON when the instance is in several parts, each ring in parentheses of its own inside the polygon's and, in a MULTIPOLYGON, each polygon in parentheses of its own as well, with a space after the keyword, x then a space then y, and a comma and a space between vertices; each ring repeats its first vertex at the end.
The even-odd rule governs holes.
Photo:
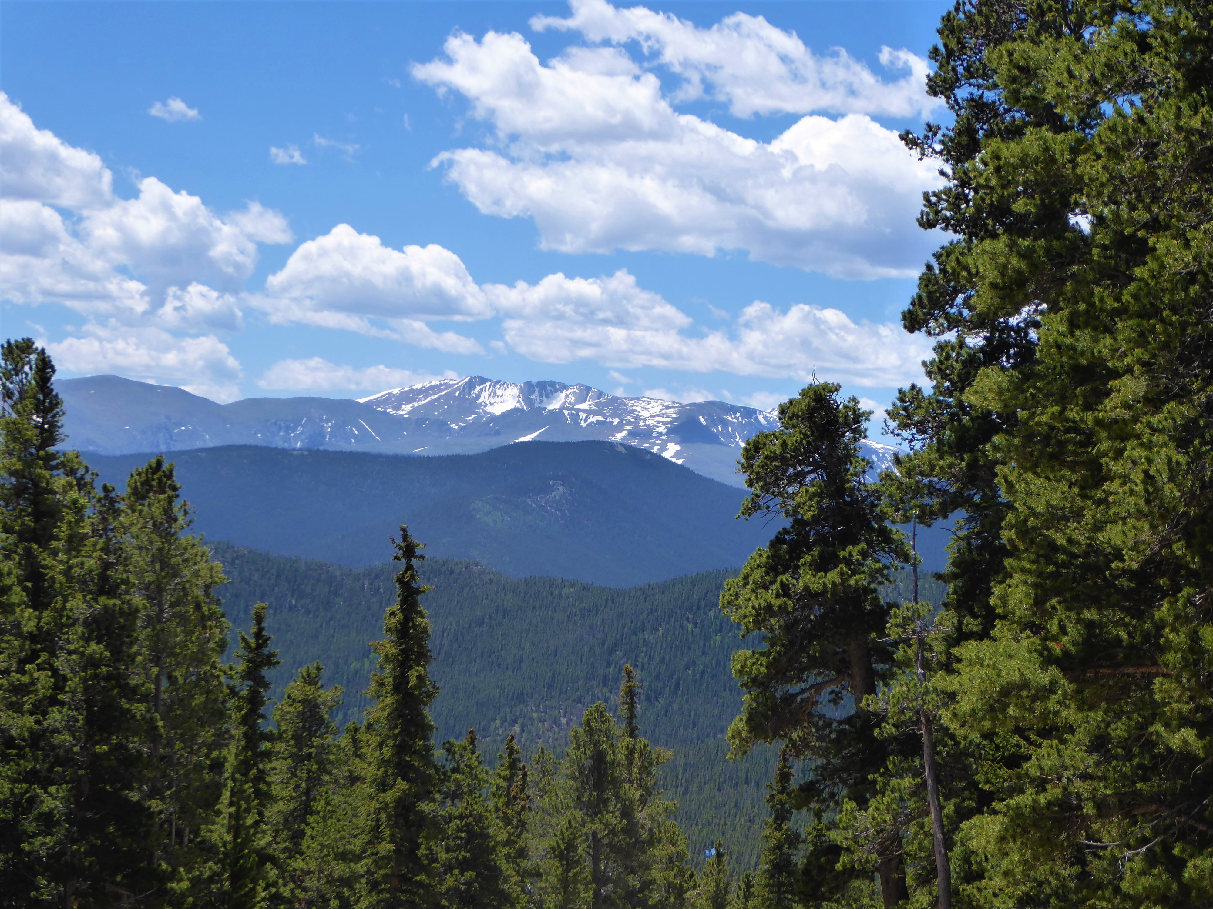
POLYGON ((39 130, 0 92, 0 193, 5 199, 92 208, 113 200, 113 183, 98 155, 39 130))

